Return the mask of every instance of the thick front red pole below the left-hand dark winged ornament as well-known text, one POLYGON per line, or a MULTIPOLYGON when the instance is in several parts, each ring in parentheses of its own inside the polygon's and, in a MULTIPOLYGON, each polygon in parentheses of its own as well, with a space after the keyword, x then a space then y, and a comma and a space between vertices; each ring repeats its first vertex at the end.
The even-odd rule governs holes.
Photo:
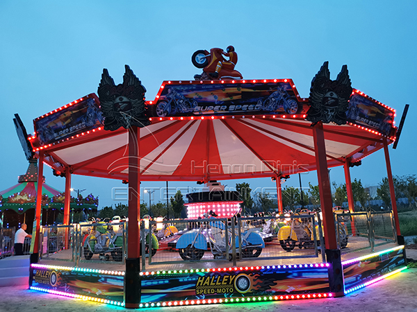
POLYGON ((136 125, 129 129, 129 222, 128 222, 128 258, 139 258, 140 243, 140 128, 136 125))

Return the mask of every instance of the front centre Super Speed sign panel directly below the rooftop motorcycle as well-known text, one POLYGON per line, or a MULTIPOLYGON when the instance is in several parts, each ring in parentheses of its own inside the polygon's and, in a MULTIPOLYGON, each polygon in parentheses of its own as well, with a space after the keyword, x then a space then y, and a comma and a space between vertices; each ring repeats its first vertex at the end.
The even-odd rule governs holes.
POLYGON ((291 83, 166 84, 148 116, 204 114, 305 114, 291 83))

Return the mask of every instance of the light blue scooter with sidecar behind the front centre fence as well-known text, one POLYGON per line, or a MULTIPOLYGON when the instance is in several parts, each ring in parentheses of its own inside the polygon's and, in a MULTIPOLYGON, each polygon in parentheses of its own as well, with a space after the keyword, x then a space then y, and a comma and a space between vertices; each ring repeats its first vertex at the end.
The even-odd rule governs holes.
MULTIPOLYGON (((204 256, 208 247, 214 259, 224 259, 227 252, 231 260, 231 229, 228 229, 228 241, 225 236, 224 221, 215 218, 202 219, 198 221, 199 229, 193 229, 181 235, 177 241, 176 249, 183 260, 199 260, 204 256)), ((262 237, 254 232, 256 229, 249 229, 241 234, 242 257, 259 257, 265 243, 262 237)), ((236 230, 235 233, 238 233, 236 230)), ((239 250, 239 239, 236 238, 236 251, 239 250)))

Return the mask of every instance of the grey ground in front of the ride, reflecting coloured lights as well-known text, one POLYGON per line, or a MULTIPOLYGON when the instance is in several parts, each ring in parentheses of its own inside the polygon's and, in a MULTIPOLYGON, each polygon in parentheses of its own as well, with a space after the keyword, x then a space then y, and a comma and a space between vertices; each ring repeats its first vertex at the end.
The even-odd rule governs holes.
MULTIPOLYGON (((305 311, 305 312, 397 312, 417 311, 417 268, 404 270, 346 297, 320 300, 293 300, 251 304, 213 304, 199 306, 204 312, 218 311, 305 311)), ((191 312, 195 306, 156 308, 154 311, 191 312)), ((67 297, 28 291, 27 286, 0 288, 1 312, 129 311, 116 306, 73 300, 67 297), (37 310, 39 309, 39 310, 37 310)), ((144 309, 140 309, 144 310, 144 309)), ((130 310, 131 311, 131 310, 130 310)))

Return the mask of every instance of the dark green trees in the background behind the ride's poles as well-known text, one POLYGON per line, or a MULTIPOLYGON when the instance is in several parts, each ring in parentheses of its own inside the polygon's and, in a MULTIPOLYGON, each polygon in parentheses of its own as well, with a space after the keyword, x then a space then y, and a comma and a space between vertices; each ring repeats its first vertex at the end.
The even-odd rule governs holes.
MULTIPOLYGON (((395 175, 393 177, 395 197, 407 198, 408 204, 398 205, 399 210, 417 209, 417 177, 416 175, 395 175)), ((240 193, 240 200, 243 200, 243 214, 254 214, 256 212, 276 211, 277 199, 273 198, 268 192, 252 192, 249 183, 237 183, 236 191, 240 193)), ((296 187, 284 187, 282 191, 282 203, 284 209, 293 210, 297 207, 318 207, 320 206, 320 191, 318 185, 309 182, 309 187, 299 189, 296 187)), ((388 179, 384 177, 382 182, 377 186, 377 195, 371 197, 370 190, 363 187, 361 179, 356 178, 352 181, 352 193, 355 211, 365 211, 367 209, 379 209, 372 200, 382 200, 384 209, 391 209, 391 197, 389 193, 388 179)), ((347 202, 346 184, 332 184, 332 200, 335 206, 342 206, 347 202)), ((170 218, 180 218, 185 215, 183 194, 177 191, 175 196, 170 198, 170 205, 167 207, 165 202, 156 202, 152 204, 149 210, 147 203, 140 204, 140 216, 169 216, 170 218)), ((128 206, 122 203, 115 207, 103 207, 97 211, 97 216, 103 218, 113 218, 113 216, 128 216, 128 206)))

